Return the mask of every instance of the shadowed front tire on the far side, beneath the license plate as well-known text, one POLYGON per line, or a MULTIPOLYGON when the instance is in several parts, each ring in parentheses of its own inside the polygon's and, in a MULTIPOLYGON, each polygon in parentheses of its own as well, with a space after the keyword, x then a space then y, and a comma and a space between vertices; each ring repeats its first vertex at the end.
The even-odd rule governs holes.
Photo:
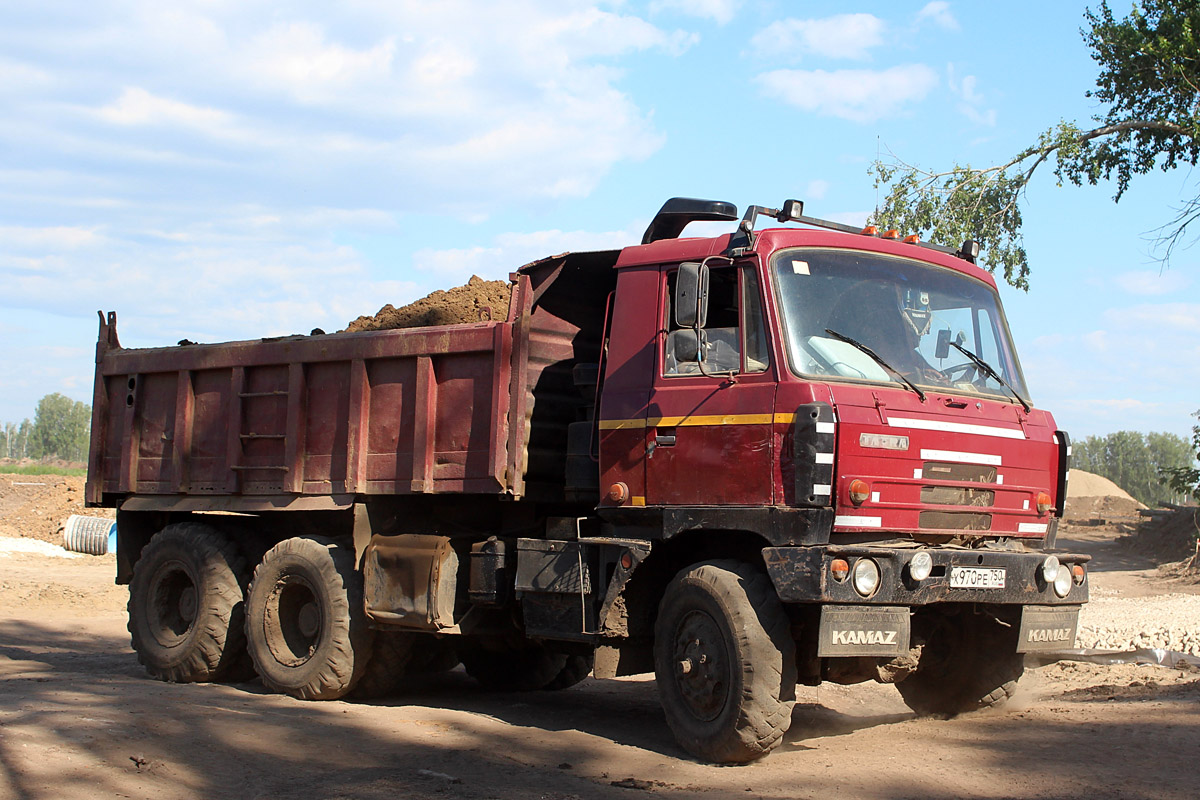
POLYGON ((930 626, 917 670, 896 688, 920 715, 954 716, 1002 705, 1016 692, 1025 656, 1016 627, 967 612, 930 626))

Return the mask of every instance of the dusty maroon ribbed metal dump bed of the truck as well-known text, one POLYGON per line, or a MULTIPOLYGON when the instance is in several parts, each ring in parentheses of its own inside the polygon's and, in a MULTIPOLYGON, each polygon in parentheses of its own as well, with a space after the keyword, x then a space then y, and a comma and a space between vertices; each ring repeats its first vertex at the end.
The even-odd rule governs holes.
POLYGON ((523 267, 509 319, 473 325, 124 349, 115 314, 102 314, 86 499, 188 510, 222 507, 214 495, 257 500, 229 509, 521 497, 530 439, 557 453, 546 477, 560 493, 565 426, 583 402, 571 369, 598 360, 607 293, 584 309, 550 289, 564 275, 611 281, 595 267, 612 260, 523 267))

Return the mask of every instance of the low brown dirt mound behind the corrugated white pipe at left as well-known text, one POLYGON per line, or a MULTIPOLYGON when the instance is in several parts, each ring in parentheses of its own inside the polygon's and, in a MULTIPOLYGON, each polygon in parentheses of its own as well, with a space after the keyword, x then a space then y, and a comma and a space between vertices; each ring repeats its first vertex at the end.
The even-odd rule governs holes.
POLYGON ((62 527, 73 513, 115 518, 112 509, 85 509, 82 475, 0 474, 0 536, 25 536, 62 543, 62 527))

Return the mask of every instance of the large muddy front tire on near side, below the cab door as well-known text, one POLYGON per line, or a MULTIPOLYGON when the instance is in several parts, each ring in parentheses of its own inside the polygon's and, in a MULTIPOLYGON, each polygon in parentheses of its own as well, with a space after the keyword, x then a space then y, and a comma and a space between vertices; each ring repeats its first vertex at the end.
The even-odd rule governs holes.
POLYGON ((708 762, 770 752, 792 722, 796 645, 770 579, 739 561, 682 571, 654 625, 654 674, 676 740, 708 762))

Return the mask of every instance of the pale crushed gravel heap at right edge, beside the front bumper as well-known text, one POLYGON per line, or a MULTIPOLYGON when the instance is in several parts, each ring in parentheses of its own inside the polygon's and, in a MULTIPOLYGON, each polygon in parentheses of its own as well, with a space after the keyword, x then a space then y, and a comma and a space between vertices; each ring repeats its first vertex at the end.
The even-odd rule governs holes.
POLYGON ((1092 595, 1079 615, 1078 645, 1099 650, 1163 648, 1200 656, 1200 595, 1092 595))

